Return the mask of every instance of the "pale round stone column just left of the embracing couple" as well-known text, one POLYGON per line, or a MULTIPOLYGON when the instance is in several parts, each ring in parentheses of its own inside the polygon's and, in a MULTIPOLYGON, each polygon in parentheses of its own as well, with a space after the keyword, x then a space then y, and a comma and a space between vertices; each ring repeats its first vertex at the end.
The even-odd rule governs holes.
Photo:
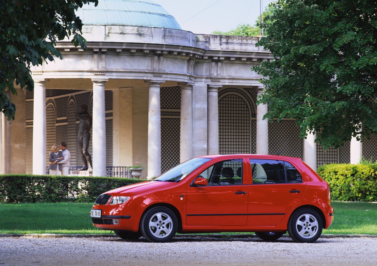
POLYGON ((46 82, 34 80, 33 174, 46 174, 46 82))

